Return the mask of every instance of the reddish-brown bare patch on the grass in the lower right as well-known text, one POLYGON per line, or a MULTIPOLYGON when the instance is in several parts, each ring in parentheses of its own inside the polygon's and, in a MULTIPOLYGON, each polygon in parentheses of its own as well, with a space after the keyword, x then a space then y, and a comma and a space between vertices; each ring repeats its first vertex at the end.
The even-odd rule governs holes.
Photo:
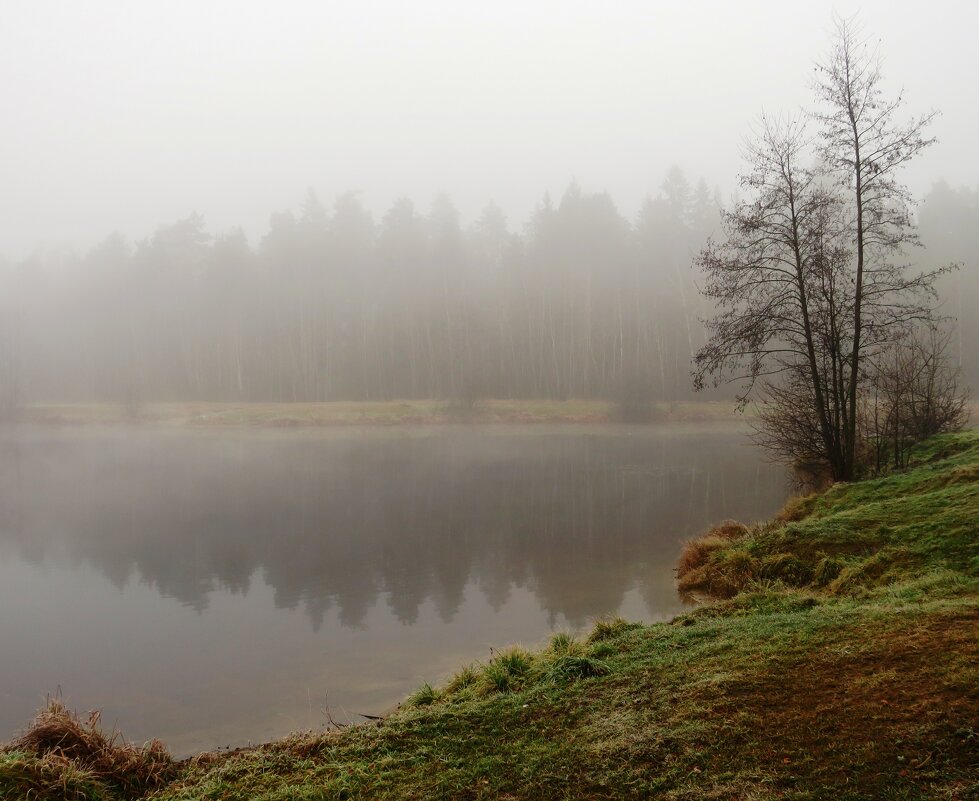
POLYGON ((773 768, 785 789, 801 781, 883 797, 941 786, 969 797, 979 776, 979 610, 856 634, 725 688, 711 712, 742 734, 732 761, 773 768))

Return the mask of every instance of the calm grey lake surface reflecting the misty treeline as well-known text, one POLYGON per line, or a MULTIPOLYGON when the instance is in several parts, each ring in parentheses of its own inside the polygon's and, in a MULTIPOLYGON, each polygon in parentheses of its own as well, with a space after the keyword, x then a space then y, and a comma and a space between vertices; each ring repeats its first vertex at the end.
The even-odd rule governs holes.
POLYGON ((0 740, 48 693, 178 754, 378 714, 616 613, 787 491, 733 426, 0 429, 0 740))

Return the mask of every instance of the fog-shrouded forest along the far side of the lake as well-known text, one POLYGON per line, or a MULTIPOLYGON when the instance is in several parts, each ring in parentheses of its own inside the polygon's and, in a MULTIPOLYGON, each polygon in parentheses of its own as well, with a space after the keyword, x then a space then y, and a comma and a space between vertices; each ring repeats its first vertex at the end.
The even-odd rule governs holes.
MULTIPOLYGON (((678 167, 633 220, 575 182, 522 227, 492 203, 464 227, 445 196, 375 220, 356 193, 326 204, 310 191, 254 245, 191 214, 134 244, 0 261, 3 407, 687 399, 711 311, 692 265, 720 207, 678 167)), ((940 282, 940 313, 977 386, 979 189, 934 184, 917 222, 910 260, 961 265, 940 282)))

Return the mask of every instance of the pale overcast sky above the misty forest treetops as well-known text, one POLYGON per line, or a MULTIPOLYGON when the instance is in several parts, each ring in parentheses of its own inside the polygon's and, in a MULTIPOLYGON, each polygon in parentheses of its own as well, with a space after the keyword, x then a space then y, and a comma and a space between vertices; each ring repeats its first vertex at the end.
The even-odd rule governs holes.
POLYGON ((523 223, 572 178, 633 215, 680 165, 724 193, 764 108, 808 102, 860 12, 940 138, 906 173, 979 183, 979 12, 910 2, 0 0, 0 253, 244 226, 307 189, 447 193, 523 223))

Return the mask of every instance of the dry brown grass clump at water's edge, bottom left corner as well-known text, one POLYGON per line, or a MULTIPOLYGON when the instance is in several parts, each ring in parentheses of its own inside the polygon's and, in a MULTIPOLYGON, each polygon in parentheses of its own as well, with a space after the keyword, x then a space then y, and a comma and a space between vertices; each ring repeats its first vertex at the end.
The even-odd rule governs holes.
POLYGON ((27 731, 3 750, 67 761, 128 798, 139 797, 173 776, 173 758, 159 740, 142 746, 127 743, 119 732, 103 732, 100 723, 99 712, 90 712, 82 720, 53 699, 27 731))

